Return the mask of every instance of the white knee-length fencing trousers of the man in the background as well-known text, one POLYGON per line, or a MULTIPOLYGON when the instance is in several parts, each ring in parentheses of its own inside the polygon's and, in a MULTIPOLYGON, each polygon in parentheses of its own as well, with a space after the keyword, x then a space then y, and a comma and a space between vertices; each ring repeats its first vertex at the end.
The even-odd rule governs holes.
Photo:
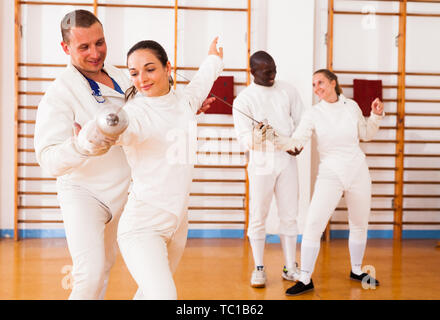
POLYGON ((298 169, 295 157, 286 154, 273 155, 273 168, 259 170, 252 163, 249 177, 249 226, 250 239, 266 238, 266 220, 275 195, 279 233, 287 236, 298 234, 298 169))

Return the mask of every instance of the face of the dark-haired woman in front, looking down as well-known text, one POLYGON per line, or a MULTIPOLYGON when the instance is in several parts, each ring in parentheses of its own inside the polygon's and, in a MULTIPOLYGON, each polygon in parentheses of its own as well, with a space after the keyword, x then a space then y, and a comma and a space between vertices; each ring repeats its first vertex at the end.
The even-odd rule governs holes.
POLYGON ((170 91, 171 64, 163 66, 148 49, 140 49, 128 57, 128 71, 137 91, 147 97, 159 97, 170 91))

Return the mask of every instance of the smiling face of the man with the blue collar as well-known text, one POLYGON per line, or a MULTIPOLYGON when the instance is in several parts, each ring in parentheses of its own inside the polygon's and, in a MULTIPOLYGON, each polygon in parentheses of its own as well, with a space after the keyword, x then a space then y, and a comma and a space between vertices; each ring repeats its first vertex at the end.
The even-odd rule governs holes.
POLYGON ((70 29, 69 42, 61 42, 61 46, 79 71, 86 74, 101 71, 107 55, 107 44, 100 23, 96 22, 89 28, 70 29))

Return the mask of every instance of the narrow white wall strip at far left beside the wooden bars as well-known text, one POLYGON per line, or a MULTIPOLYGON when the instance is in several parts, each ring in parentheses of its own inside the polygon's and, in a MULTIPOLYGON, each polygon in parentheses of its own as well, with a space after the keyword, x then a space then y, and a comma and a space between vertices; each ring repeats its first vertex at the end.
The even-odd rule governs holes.
POLYGON ((0 230, 14 227, 14 2, 0 1, 0 230))

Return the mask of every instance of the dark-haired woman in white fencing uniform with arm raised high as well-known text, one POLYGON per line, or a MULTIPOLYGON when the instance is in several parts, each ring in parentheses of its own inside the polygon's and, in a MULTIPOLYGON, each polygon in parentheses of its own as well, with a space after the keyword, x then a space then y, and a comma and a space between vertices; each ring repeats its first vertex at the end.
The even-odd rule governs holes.
POLYGON ((138 298, 177 298, 172 270, 186 244, 195 115, 223 70, 223 49, 216 46, 217 39, 181 91, 171 87, 171 65, 160 44, 141 41, 127 54, 134 86, 126 92, 124 107, 129 125, 117 144, 132 168, 133 187, 119 222, 118 243, 139 286, 138 298))

